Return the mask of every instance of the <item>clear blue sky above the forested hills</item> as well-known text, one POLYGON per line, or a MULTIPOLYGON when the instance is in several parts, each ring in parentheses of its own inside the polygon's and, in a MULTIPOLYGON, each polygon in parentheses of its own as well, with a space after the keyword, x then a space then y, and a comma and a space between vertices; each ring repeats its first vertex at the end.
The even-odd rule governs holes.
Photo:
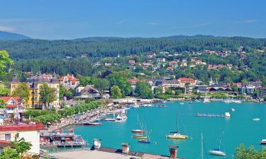
POLYGON ((0 30, 39 39, 266 37, 265 0, 1 0, 0 30))

